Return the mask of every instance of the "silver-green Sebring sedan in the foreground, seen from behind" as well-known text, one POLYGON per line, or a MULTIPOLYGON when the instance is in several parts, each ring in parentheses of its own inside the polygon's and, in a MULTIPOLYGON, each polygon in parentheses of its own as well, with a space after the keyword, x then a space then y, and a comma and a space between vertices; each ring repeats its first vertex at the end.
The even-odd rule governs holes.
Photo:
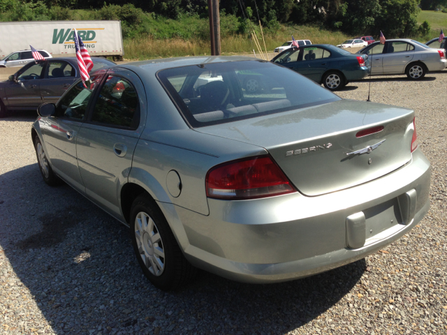
POLYGON ((44 181, 129 226, 163 290, 196 267, 249 283, 327 271, 395 241, 430 206, 412 110, 343 100, 270 62, 112 66, 38 112, 44 181), (270 85, 247 91, 241 73, 270 85))

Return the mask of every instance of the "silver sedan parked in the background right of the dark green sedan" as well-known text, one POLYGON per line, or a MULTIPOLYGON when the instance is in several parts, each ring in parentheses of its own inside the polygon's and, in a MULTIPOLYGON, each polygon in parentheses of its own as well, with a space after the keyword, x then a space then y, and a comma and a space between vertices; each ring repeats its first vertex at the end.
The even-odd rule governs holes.
POLYGON ((367 54, 372 62, 372 75, 404 75, 418 80, 429 71, 444 70, 447 66, 446 50, 433 49, 409 39, 374 42, 358 54, 367 54))

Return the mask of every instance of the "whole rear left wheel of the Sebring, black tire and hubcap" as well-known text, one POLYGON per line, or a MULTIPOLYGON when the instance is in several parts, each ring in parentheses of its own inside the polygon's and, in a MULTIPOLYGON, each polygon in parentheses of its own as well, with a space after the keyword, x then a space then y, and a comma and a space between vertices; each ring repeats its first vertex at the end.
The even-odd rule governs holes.
POLYGON ((196 276, 196 268, 184 258, 166 218, 147 195, 133 201, 130 225, 138 264, 156 288, 175 290, 196 276))

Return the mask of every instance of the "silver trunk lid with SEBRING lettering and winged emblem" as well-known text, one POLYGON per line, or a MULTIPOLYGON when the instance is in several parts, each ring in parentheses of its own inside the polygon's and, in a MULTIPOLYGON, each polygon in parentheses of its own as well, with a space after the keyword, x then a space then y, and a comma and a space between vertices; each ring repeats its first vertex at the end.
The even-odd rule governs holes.
POLYGON ((320 195, 376 179, 408 162, 413 114, 400 107, 342 100, 196 131, 265 148, 300 192, 320 195), (373 126, 384 129, 356 137, 373 126), (346 155, 382 140, 369 154, 346 155))

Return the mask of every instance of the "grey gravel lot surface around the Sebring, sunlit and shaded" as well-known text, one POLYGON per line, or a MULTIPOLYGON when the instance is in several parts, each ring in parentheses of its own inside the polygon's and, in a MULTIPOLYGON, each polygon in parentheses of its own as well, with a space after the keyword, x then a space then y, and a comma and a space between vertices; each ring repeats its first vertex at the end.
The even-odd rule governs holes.
MULTIPOLYGON (((1 334, 447 334, 447 70, 375 77, 372 101, 416 110, 432 163, 431 209, 378 253, 324 274, 247 285, 201 272, 177 292, 143 278, 126 228, 64 185, 50 188, 34 115, 0 120, 1 334)), ((366 100, 368 82, 339 95, 366 100)))

